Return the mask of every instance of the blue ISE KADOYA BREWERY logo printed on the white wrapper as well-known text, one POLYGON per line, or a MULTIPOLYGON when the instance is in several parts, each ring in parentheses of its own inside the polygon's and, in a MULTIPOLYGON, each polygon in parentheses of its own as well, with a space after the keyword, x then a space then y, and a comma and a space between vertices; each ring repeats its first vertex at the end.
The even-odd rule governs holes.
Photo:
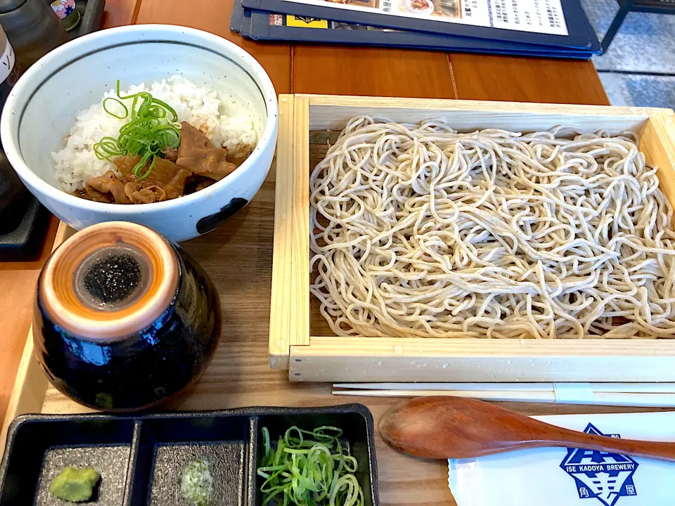
MULTIPOLYGON (((621 437, 619 434, 603 434, 593 424, 588 424, 584 432, 621 437)), ((580 499, 595 499, 602 505, 615 506, 619 498, 637 495, 633 475, 638 462, 628 455, 567 448, 560 467, 574 478, 580 499)))

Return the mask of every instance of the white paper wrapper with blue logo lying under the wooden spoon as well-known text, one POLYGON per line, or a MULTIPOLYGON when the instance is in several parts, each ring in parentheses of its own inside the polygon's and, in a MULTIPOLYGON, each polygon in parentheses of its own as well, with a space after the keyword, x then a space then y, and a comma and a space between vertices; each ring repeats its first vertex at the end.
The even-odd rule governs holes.
MULTIPOLYGON (((675 441, 675 412, 533 417, 624 439, 675 441)), ((675 505, 675 464, 627 455, 541 448, 449 460, 458 506, 675 505)))

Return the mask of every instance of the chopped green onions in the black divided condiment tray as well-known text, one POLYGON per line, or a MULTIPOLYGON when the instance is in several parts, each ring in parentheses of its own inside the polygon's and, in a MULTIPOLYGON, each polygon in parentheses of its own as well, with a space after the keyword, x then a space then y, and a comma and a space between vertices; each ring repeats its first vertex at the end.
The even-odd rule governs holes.
POLYGON ((364 491, 354 476, 358 464, 340 436, 337 427, 310 432, 294 426, 273 448, 263 427, 264 455, 257 470, 265 479, 262 505, 363 506, 364 491))

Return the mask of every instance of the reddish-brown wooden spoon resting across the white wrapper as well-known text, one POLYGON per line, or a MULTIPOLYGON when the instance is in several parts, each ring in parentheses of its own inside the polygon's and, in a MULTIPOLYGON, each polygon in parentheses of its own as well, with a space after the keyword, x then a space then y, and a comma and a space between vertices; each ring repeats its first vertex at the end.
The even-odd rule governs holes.
POLYGON ((563 446, 675 462, 675 443, 585 434, 453 396, 418 397, 393 406, 380 419, 380 434, 392 448, 421 458, 475 458, 563 446))

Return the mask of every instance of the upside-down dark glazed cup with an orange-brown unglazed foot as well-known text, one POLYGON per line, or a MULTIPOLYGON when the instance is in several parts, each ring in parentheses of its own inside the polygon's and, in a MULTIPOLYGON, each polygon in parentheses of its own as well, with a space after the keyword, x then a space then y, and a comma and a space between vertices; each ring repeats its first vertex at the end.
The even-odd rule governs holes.
POLYGON ((221 330, 202 268, 150 228, 84 228, 46 261, 37 285, 35 353, 63 394, 91 408, 148 408, 196 380, 221 330))

